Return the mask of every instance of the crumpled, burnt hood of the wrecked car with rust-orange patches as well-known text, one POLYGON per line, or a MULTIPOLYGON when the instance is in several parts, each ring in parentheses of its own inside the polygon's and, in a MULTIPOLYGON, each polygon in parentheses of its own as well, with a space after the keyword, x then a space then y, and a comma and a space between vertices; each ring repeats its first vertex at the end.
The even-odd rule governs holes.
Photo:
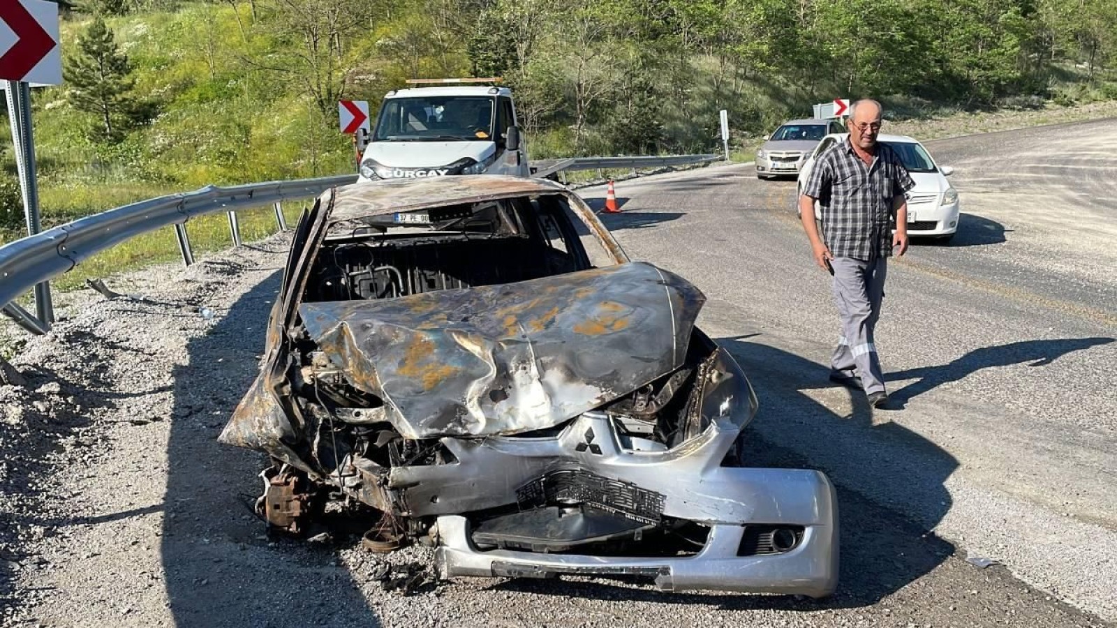
MULTIPOLYGON (((515 263, 514 260, 509 260, 515 263)), ((311 339, 404 438, 545 429, 678 369, 701 292, 650 264, 306 303, 311 339)))

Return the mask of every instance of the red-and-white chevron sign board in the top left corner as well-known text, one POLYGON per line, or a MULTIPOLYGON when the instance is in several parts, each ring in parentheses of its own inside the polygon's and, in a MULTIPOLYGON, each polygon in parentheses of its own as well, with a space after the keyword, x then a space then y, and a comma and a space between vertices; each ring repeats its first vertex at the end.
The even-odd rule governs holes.
POLYGON ((61 84, 58 4, 47 0, 0 0, 0 80, 61 84))

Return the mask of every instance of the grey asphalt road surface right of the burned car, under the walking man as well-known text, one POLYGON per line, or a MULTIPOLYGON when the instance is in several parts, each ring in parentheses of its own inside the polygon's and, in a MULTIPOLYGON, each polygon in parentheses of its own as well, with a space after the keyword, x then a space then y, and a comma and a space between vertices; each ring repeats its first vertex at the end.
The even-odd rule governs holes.
POLYGON ((827 381, 837 311, 794 181, 747 165, 627 181, 602 217, 630 256, 706 293, 699 323, 755 380, 757 438, 1114 618, 1115 144, 1113 121, 928 143, 964 216, 949 246, 916 240, 889 266, 891 410, 827 381))

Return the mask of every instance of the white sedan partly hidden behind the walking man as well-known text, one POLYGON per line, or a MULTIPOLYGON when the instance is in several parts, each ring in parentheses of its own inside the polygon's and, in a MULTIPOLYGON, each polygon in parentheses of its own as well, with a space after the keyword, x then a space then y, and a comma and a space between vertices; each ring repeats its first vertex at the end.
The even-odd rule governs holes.
MULTIPOLYGON (((846 142, 849 133, 833 133, 819 142, 818 148, 806 159, 799 171, 799 191, 803 190, 819 155, 840 142, 846 142)), ((932 237, 949 241, 958 230, 958 192, 946 182, 954 173, 948 165, 939 166, 930 159, 923 144, 906 135, 879 135, 877 141, 891 146, 911 174, 915 188, 907 193, 908 236, 932 237)), ((796 196, 795 207, 799 207, 796 196)), ((814 218, 821 220, 819 203, 814 203, 814 218)))

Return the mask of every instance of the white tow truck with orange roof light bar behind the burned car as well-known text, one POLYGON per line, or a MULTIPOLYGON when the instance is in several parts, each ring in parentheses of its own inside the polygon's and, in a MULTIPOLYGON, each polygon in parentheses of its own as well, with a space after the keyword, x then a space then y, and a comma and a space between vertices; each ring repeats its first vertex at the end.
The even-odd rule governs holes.
POLYGON ((494 78, 440 78, 457 84, 393 89, 384 96, 361 156, 360 181, 451 174, 528 177, 527 146, 512 91, 494 78))

